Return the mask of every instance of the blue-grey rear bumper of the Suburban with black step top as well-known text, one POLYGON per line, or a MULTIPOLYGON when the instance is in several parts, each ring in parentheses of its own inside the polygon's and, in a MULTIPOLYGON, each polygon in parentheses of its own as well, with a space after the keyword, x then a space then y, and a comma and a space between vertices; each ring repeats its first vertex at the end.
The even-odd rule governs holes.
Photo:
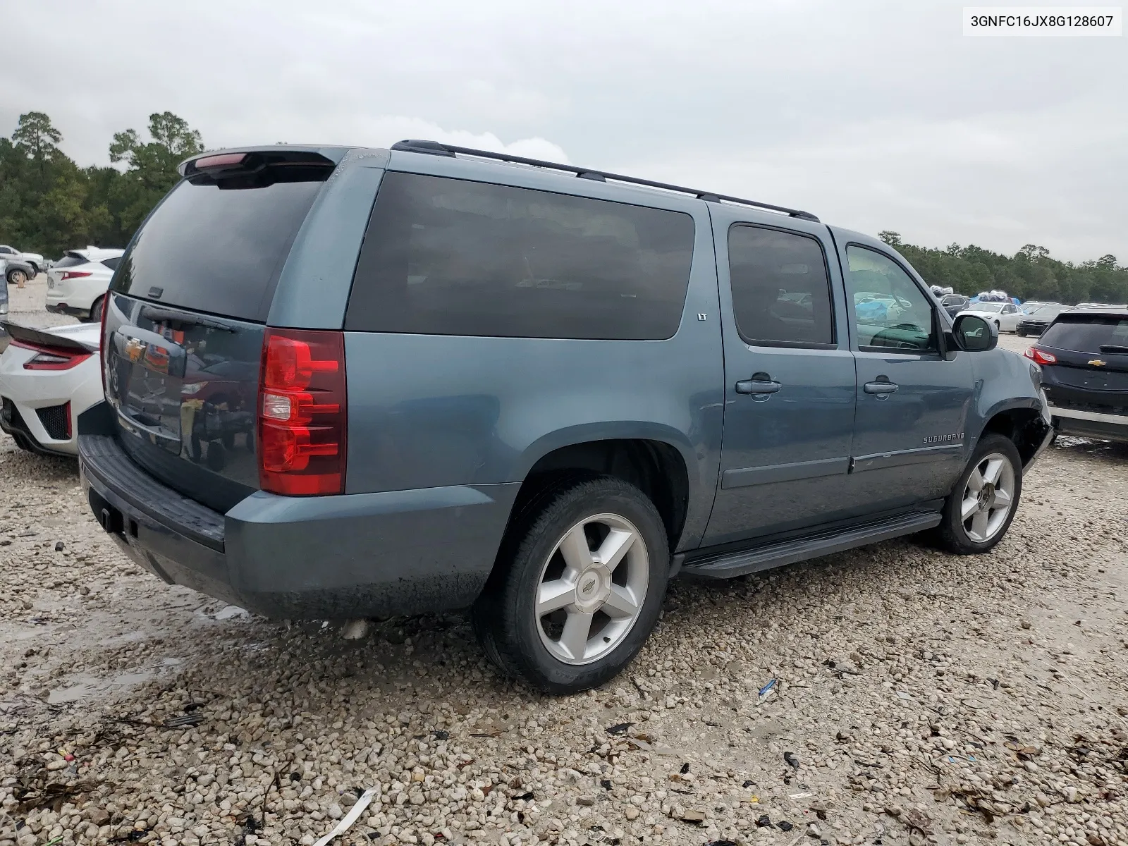
POLYGON ((90 508, 134 562, 275 618, 341 619, 470 605, 520 484, 343 496, 256 492, 226 514, 157 482, 111 435, 79 435, 90 508))

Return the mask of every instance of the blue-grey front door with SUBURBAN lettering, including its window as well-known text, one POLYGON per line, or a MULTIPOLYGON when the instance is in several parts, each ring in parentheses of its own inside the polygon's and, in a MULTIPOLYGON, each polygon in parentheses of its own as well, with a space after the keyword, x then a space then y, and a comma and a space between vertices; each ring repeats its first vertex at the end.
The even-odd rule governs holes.
POLYGON ((949 325, 904 259, 835 231, 846 290, 889 291, 907 302, 893 320, 852 316, 857 416, 851 495, 872 512, 948 495, 962 467, 971 407, 968 353, 945 352, 949 325))

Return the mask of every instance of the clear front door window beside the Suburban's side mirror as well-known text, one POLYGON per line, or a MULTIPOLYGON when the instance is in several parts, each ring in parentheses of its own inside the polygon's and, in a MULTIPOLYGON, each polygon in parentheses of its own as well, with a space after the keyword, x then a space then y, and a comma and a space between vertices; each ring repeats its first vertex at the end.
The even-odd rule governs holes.
POLYGON ((936 352, 932 306, 913 277, 892 258, 865 247, 846 247, 846 259, 858 347, 936 352))

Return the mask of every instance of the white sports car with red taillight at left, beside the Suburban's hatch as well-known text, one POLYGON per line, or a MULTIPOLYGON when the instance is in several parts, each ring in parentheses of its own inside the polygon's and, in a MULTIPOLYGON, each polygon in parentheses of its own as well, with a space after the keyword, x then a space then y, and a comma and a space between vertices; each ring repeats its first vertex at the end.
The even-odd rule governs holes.
POLYGON ((0 354, 0 429, 29 452, 78 452, 78 415, 100 403, 102 327, 33 329, 6 323, 0 354))

